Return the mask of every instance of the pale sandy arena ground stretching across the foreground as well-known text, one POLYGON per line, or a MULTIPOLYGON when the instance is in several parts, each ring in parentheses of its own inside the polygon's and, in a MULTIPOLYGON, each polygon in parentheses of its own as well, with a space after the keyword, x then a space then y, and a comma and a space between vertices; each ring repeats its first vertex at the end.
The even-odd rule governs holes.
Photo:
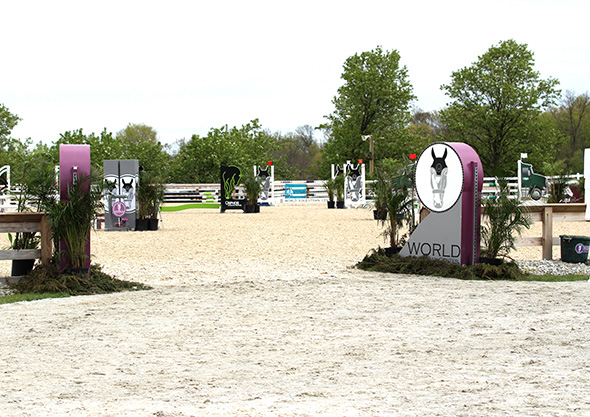
POLYGON ((590 283, 352 268, 380 233, 319 204, 94 232, 95 262, 155 289, 0 306, 1 413, 590 415, 590 283))

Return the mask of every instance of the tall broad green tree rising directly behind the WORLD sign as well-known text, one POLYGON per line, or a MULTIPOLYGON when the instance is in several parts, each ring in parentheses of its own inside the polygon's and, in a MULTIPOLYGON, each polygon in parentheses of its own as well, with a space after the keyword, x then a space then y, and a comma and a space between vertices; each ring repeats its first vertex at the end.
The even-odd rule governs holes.
POLYGON ((555 156, 558 135, 539 116, 559 98, 559 82, 533 67, 526 44, 503 41, 441 86, 453 100, 441 111, 448 133, 474 147, 487 174, 514 173, 520 152, 555 156))

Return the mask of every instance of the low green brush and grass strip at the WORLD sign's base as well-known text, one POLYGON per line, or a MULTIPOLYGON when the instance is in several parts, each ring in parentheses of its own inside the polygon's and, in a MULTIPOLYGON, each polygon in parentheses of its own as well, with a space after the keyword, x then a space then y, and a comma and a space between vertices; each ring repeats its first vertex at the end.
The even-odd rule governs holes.
POLYGON ((356 265, 365 271, 390 272, 395 274, 428 275, 466 280, 509 280, 509 281, 584 281, 584 275, 533 275, 522 272, 515 262, 504 262, 494 266, 488 264, 458 265, 427 257, 410 258, 399 255, 388 256, 379 248, 356 265))

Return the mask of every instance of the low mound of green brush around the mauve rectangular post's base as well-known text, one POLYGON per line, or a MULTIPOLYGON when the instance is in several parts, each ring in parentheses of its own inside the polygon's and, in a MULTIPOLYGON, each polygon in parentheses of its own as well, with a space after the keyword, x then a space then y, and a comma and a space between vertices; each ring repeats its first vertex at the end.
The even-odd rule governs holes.
MULTIPOLYGON (((150 290, 139 282, 124 281, 102 271, 100 265, 90 266, 90 274, 60 274, 54 263, 37 265, 18 284, 11 286, 17 294, 91 295, 120 291, 150 290)), ((16 294, 15 294, 16 295, 16 294)))

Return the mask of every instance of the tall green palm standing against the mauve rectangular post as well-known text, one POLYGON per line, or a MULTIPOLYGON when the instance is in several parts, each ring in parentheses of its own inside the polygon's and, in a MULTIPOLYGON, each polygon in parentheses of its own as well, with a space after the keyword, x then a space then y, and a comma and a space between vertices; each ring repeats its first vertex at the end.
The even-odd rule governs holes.
POLYGON ((67 201, 47 205, 54 248, 65 262, 65 272, 88 272, 90 259, 86 244, 92 220, 103 209, 102 175, 83 176, 70 185, 67 201))

